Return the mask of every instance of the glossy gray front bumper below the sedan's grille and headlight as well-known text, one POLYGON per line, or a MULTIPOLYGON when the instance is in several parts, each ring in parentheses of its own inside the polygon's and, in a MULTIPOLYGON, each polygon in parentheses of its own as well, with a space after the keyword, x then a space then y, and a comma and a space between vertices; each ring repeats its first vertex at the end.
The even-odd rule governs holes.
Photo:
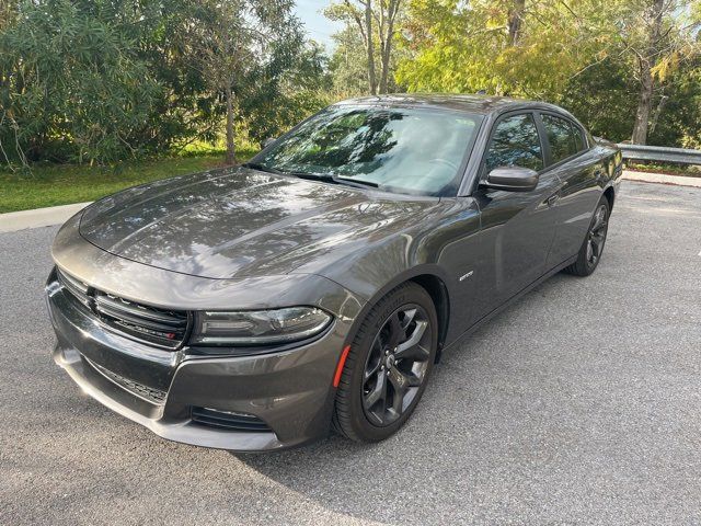
POLYGON ((154 350, 105 330, 72 300, 54 274, 47 293, 57 335, 56 363, 92 398, 159 436, 197 446, 263 451, 302 445, 329 432, 333 376, 352 320, 336 318, 318 340, 284 352, 200 356, 188 354, 187 347, 154 350), (193 408, 252 415, 269 430, 203 425, 193 421, 193 408))

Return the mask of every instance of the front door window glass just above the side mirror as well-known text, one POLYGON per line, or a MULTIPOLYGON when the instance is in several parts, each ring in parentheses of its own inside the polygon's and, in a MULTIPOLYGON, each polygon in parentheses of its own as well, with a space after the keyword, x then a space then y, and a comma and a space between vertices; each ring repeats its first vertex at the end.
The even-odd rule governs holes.
POLYGON ((531 114, 506 117, 496 125, 486 155, 486 170, 498 167, 543 169, 543 152, 531 114))

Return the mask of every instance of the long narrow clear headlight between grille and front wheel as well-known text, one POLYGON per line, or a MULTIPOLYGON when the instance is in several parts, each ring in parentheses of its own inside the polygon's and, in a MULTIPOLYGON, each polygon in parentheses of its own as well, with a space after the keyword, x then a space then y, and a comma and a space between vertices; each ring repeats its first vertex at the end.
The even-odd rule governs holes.
POLYGON ((319 334, 331 316, 313 307, 241 312, 198 312, 192 342, 199 345, 269 345, 319 334))

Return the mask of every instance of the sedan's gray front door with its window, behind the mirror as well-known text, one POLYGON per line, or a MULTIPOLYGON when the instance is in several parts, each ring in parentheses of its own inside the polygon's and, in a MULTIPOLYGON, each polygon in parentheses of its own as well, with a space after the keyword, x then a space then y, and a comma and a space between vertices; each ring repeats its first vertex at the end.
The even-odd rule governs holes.
MULTIPOLYGON (((560 192, 558 174, 547 170, 544 137, 532 111, 508 113, 494 124, 481 168, 481 181, 498 167, 539 172, 532 192, 505 192, 480 186, 473 196, 481 214, 482 238, 492 249, 492 278, 481 282, 485 310, 527 287, 545 272, 555 233, 551 203, 560 192)), ((485 312, 486 313, 486 312, 485 312)))

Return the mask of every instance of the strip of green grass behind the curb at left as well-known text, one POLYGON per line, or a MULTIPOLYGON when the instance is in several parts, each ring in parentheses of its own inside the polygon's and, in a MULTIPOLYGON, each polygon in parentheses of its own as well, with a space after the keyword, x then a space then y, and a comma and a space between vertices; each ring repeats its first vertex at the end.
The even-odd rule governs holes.
MULTIPOLYGON (((241 160, 254 151, 240 151, 241 160)), ((116 167, 35 165, 31 173, 0 171, 0 214, 95 201, 149 181, 223 165, 223 156, 179 156, 116 167)))

